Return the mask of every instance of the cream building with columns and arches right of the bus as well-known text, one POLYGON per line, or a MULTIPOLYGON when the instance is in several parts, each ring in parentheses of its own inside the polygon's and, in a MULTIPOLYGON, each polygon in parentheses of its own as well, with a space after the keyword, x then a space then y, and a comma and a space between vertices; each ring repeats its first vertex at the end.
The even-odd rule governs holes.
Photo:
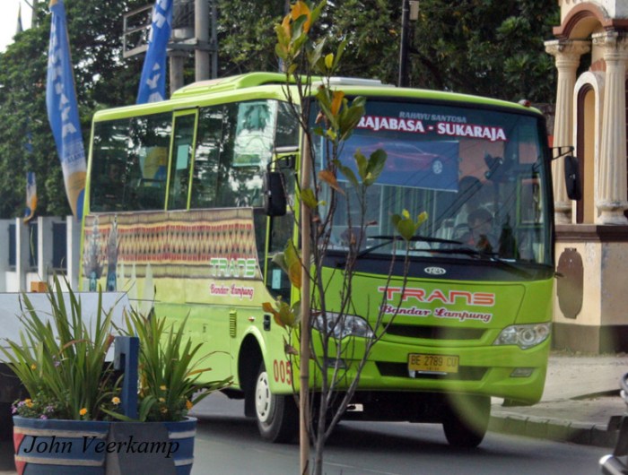
POLYGON ((554 160, 557 272, 554 347, 628 350, 626 61, 628 0, 558 0, 545 50, 558 71, 554 146, 580 159, 582 199, 554 160))

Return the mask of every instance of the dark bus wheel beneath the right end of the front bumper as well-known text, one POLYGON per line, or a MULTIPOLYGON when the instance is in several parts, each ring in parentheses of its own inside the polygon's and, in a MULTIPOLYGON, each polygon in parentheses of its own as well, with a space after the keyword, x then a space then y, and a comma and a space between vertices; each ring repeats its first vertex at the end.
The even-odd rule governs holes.
POLYGON ((475 448, 484 439, 491 418, 491 398, 488 396, 456 396, 442 420, 449 445, 475 448))

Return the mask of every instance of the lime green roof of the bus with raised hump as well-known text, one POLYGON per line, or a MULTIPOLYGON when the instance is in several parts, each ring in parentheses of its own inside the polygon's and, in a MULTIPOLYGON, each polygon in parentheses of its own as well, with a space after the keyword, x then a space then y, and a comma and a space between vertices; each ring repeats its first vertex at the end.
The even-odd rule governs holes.
MULTIPOLYGON (((99 121, 116 117, 135 116, 140 110, 142 114, 152 114, 173 110, 175 108, 202 106, 205 105, 205 102, 211 104, 231 102, 238 99, 285 99, 283 89, 281 88, 285 82, 286 77, 284 73, 245 73, 207 81, 193 82, 174 91, 169 100, 101 110, 94 115, 94 119, 99 121)), ((313 77, 312 84, 315 86, 317 82, 320 82, 320 78, 313 77)), ((446 100, 460 104, 467 103, 489 107, 519 109, 528 112, 533 110, 540 114, 540 112, 534 108, 530 108, 528 105, 506 100, 489 99, 456 92, 397 88, 375 79, 333 77, 330 80, 330 85, 332 87, 342 88, 347 95, 446 100)))

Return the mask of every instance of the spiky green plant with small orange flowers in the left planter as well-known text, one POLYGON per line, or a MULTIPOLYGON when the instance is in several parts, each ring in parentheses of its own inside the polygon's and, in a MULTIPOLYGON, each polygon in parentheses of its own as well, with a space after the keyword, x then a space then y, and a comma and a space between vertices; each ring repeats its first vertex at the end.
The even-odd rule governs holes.
POLYGON ((92 324, 83 321, 81 301, 70 291, 67 303, 58 281, 48 289, 49 315, 22 295, 20 341, 1 348, 29 398, 13 413, 40 419, 104 419, 101 405, 112 397, 116 375, 105 358, 114 341, 112 313, 101 296, 92 324))

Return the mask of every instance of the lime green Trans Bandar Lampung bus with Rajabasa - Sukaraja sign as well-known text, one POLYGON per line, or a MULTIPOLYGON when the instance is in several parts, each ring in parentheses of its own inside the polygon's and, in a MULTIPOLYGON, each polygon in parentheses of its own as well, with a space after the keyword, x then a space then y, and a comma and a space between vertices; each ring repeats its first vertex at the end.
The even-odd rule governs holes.
MULTIPOLYGON (((451 445, 478 445, 491 397, 533 404, 545 384, 554 209, 544 117, 494 99, 331 83, 367 99, 341 161, 351 166, 358 149, 388 153, 367 195, 350 316, 357 330, 346 337, 363 338, 372 315, 396 315, 345 417, 441 423, 451 445), (398 252, 390 216, 402 210, 428 213, 406 285, 401 261, 390 265, 398 252)), ((228 395, 244 399, 272 441, 297 425, 295 381, 285 330, 262 304, 296 298, 272 257, 299 242, 302 140, 283 74, 249 73, 100 111, 89 151, 83 289, 124 290, 174 321, 188 315, 190 336, 212 352, 207 377, 233 376, 228 395), (270 169, 283 174, 283 212, 265 206, 270 169)), ((320 163, 325 147, 314 149, 320 163)), ((345 258, 350 234, 346 213, 334 219, 329 269, 345 258)))

